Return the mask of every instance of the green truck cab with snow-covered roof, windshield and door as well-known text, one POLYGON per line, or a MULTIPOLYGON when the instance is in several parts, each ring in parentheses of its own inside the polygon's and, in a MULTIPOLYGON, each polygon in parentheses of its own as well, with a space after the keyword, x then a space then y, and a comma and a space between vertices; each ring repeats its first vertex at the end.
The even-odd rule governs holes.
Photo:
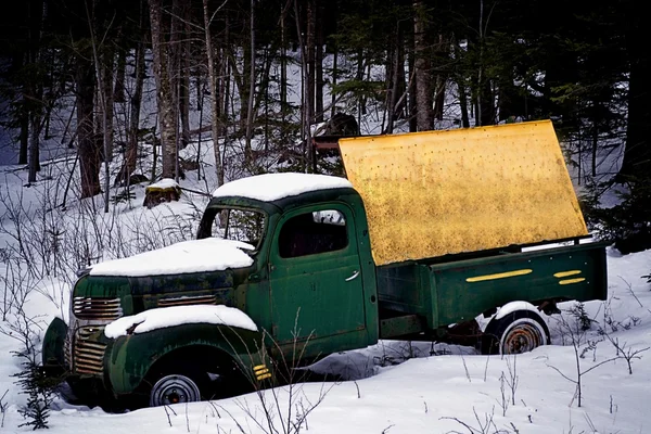
POLYGON ((363 204, 348 181, 272 174, 225 187, 208 204, 197 238, 255 245, 240 307, 268 332, 275 356, 289 357, 308 342, 306 360, 375 343, 375 269, 363 204), (273 195, 256 194, 269 189, 273 195))

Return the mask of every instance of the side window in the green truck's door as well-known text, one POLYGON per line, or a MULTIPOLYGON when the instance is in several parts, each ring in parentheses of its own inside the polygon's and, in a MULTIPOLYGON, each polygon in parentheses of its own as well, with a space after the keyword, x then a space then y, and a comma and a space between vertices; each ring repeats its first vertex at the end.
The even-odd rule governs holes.
POLYGON ((278 243, 283 258, 342 250, 348 245, 346 219, 334 209, 299 214, 285 221, 278 243))

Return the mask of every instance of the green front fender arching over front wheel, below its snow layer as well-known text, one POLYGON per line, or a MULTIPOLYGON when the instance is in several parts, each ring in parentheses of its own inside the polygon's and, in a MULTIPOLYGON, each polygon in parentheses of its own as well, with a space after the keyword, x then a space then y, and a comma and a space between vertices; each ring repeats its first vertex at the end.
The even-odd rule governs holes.
POLYGON ((250 378, 255 379, 258 374, 257 380, 260 380, 263 370, 264 373, 269 372, 267 367, 270 367, 270 362, 263 344, 263 333, 212 323, 181 324, 119 336, 107 348, 104 372, 116 396, 130 394, 166 355, 196 346, 221 350, 250 378))

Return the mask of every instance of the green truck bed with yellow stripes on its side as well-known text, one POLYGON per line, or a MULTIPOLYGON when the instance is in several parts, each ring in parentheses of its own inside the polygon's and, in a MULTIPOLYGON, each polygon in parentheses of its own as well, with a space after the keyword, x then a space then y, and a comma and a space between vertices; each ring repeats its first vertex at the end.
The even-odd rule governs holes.
MULTIPOLYGON (((436 329, 475 318, 512 301, 605 299, 605 243, 378 267, 381 312, 416 315, 436 329)), ((413 317, 410 320, 413 321, 413 317)), ((381 318, 383 319, 383 318, 381 318)), ((384 318, 386 319, 386 318, 384 318)))

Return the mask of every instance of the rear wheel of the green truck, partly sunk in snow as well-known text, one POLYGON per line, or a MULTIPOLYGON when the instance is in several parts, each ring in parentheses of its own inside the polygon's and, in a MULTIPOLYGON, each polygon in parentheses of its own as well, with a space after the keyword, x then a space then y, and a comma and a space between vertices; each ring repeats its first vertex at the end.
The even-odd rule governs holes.
POLYGON ((488 323, 482 354, 522 354, 549 343, 549 328, 537 312, 515 310, 488 323))

